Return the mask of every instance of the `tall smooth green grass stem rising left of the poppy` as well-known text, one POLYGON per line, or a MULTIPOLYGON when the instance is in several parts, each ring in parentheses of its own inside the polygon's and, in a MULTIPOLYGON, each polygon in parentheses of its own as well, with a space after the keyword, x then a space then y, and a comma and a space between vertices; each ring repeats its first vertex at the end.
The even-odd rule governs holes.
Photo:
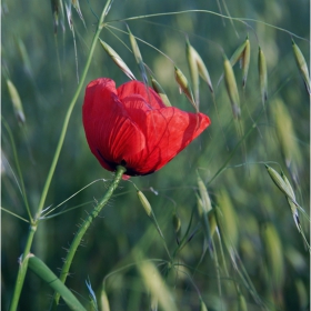
POLYGON ((42 190, 42 194, 41 194, 41 198, 40 198, 40 202, 39 202, 39 205, 38 205, 36 219, 30 227, 30 232, 29 232, 28 238, 27 238, 27 244, 26 244, 26 248, 23 250, 22 260, 20 262, 20 268, 19 268, 19 272, 18 272, 18 277, 17 277, 14 293, 13 293, 13 298, 12 298, 11 305, 10 305, 10 311, 17 310, 17 307, 18 307, 18 302, 19 302, 19 298, 20 298, 22 285, 23 285, 23 281, 24 281, 24 277, 26 277, 26 272, 27 272, 27 267, 28 267, 28 254, 30 252, 30 248, 31 248, 31 244, 32 244, 32 241, 33 241, 34 232, 37 230, 40 213, 43 209, 43 205, 44 205, 44 202, 46 202, 46 199, 47 199, 47 195, 48 195, 48 191, 49 191, 49 188, 50 188, 50 184, 51 184, 51 180, 52 180, 52 177, 54 174, 54 170, 56 170, 56 167, 57 167, 57 163, 58 163, 58 160, 59 160, 59 156, 60 156, 60 152, 61 152, 61 149, 62 149, 62 146, 63 146, 63 141, 64 141, 64 137, 66 137, 66 132, 67 132, 67 129, 68 129, 68 124, 69 124, 69 121, 70 121, 72 110, 76 106, 77 99, 78 99, 78 97, 79 97, 79 94, 82 90, 82 87, 84 86, 84 80, 87 78, 87 73, 88 73, 90 64, 91 64, 91 60, 92 60, 92 57, 93 57, 93 53, 94 53, 94 49, 96 49, 96 46, 97 46, 97 42, 98 42, 98 38, 99 38, 99 34, 100 34, 100 32, 103 28, 103 20, 104 20, 104 17, 107 16, 107 13, 110 9, 110 6, 111 6, 112 1, 113 0, 107 0, 106 6, 102 10, 101 17, 98 21, 97 31, 96 31, 96 34, 94 34, 93 40, 92 40, 89 57, 88 57, 83 73, 81 76, 80 83, 79 83, 78 89, 77 89, 76 93, 73 94, 73 98, 72 98, 72 100, 69 104, 69 108, 68 108, 68 111, 67 111, 67 114, 66 114, 66 118, 64 118, 64 121, 63 121, 62 130, 61 130, 61 133, 60 133, 60 138, 59 138, 59 142, 58 142, 58 146, 57 146, 57 149, 56 149, 56 153, 54 153, 54 157, 53 157, 53 160, 52 160, 52 164, 50 167, 50 170, 49 170, 49 173, 48 173, 48 177, 47 177, 43 190, 42 190), (36 228, 36 230, 33 231, 32 228, 36 228))

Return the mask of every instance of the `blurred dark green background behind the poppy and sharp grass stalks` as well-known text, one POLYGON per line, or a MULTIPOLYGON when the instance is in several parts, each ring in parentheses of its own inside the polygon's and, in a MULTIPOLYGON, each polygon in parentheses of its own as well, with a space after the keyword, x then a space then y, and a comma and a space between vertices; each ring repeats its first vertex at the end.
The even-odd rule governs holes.
MULTIPOLYGON (((295 228, 285 197, 273 184, 263 165, 263 162, 269 162, 275 170, 280 171, 281 168, 285 172, 298 202, 309 213, 310 98, 294 61, 291 36, 260 22, 249 21, 247 27, 245 23, 231 22, 208 12, 159 16, 131 20, 127 24, 116 21, 161 12, 209 10, 227 14, 228 11, 232 17, 271 23, 307 39, 293 37, 309 62, 309 1, 219 2, 116 0, 112 3, 106 19, 111 21, 111 31, 103 29, 100 38, 122 57, 136 77, 139 79, 140 72, 134 57, 123 44, 130 47, 128 34, 122 32, 127 31, 127 24, 136 37, 171 58, 190 79, 184 50, 188 37, 209 69, 219 113, 218 116, 208 86, 201 81, 200 111, 211 118, 212 126, 163 169, 151 175, 131 178, 131 181, 150 201, 172 252, 177 245, 172 214, 177 212, 180 217, 181 232, 184 233, 191 211, 197 207, 198 170, 208 187, 212 205, 222 211, 223 225, 247 274, 269 310, 307 310, 310 302, 309 253, 295 228), (238 64, 234 67, 244 132, 252 127, 252 120, 257 119, 262 109, 258 79, 259 46, 267 58, 269 100, 265 102, 265 112, 258 120, 258 127, 243 147, 237 149, 228 168, 209 183, 240 140, 224 81, 217 87, 223 71, 221 48, 230 57, 247 34, 251 42, 251 62, 244 92, 241 87, 241 70, 238 64), (279 255, 274 253, 275 250, 280 251, 279 255)), ((49 1, 13 0, 1 3, 2 116, 13 133, 32 212, 36 212, 64 114, 78 86, 78 77, 86 64, 97 24, 94 14, 99 16, 103 7, 103 1, 80 1, 82 21, 70 1, 63 3, 72 13, 74 39, 66 16, 59 16, 59 27, 54 32, 49 1), (14 116, 7 79, 12 81, 21 98, 26 116, 22 126, 14 116)), ((185 97, 179 93, 173 78, 173 63, 152 47, 138 42, 144 62, 153 71, 173 106, 193 111, 185 97)), ((112 78, 117 86, 128 81, 100 44, 96 49, 86 84, 99 77, 112 78)), ((56 207, 97 179, 106 181, 98 181, 74 195, 59 211, 86 203, 83 207, 43 220, 39 224, 31 251, 57 274, 79 223, 103 195, 107 180, 112 178, 110 172, 100 167, 88 148, 81 122, 82 101, 83 92, 69 123, 46 208, 56 207)), ((3 127, 1 143, 2 207, 27 219, 16 181, 17 167, 12 146, 3 127)), ((310 223, 301 214, 300 218, 309 237, 310 223)), ((194 213, 192 230, 199 222, 200 219, 194 213)), ((28 227, 28 223, 2 211, 2 310, 8 309, 12 295, 18 258, 24 247, 28 227)), ((262 307, 255 303, 250 288, 244 285, 234 270, 222 242, 230 278, 225 277, 219 242, 215 243, 220 261, 221 297, 217 285, 217 270, 209 251, 198 267, 199 271, 192 275, 191 268, 194 269, 200 262, 204 248, 204 234, 199 231, 177 259, 188 268, 180 268, 182 271, 168 277, 168 284, 179 310, 199 310, 197 290, 209 310, 238 310, 238 295, 232 280, 240 284, 249 310, 261 310, 262 307), (192 282, 187 275, 192 275, 192 282)), ((141 250, 148 259, 168 260, 157 230, 140 205, 134 187, 122 181, 114 198, 87 232, 83 245, 74 258, 68 287, 87 304, 89 292, 86 280, 89 278, 99 299, 103 278, 117 268, 133 263, 133 250, 141 250)), ((161 271, 161 267, 159 270, 161 271)), ((238 271, 241 271, 241 265, 238 271)), ((149 309, 148 294, 134 267, 109 278, 106 289, 111 310, 149 309)), ((53 291, 46 283, 28 271, 20 310, 48 310, 52 294, 53 291)), ((68 309, 60 305, 59 310, 68 309)))

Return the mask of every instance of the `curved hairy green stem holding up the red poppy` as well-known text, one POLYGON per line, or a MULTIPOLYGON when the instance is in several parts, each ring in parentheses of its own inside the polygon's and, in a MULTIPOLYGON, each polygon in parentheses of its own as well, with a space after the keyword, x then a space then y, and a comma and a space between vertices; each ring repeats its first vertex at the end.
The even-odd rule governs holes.
MULTIPOLYGON (((107 202, 109 201, 109 199, 111 198, 113 191, 116 190, 116 188, 118 187, 122 174, 126 172, 126 169, 123 167, 117 167, 117 172, 116 172, 116 177, 112 181, 112 183, 110 184, 110 187, 108 188, 104 197, 101 199, 101 201, 98 203, 98 205, 92 210, 92 212, 88 215, 88 218, 83 221, 83 223, 81 224, 79 231, 77 232, 77 234, 74 235, 74 239, 68 250, 62 270, 60 272, 60 280, 64 283, 67 275, 69 273, 70 270, 70 265, 72 263, 73 257, 76 254, 76 251, 78 249, 78 247, 81 243, 81 240, 84 235, 84 233, 87 232, 87 230, 89 229, 90 224, 92 223, 93 219, 97 218, 97 215, 99 214, 99 212, 102 210, 102 208, 107 204, 107 202)), ((56 310, 57 304, 59 303, 59 293, 56 293, 54 295, 54 301, 53 301, 53 310, 56 310)))

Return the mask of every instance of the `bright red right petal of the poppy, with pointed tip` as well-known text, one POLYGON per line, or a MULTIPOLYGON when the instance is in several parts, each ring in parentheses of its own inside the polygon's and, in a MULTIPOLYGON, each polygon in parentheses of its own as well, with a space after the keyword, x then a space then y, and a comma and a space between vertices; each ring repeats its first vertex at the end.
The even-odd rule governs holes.
POLYGON ((137 174, 154 172, 172 160, 209 124, 209 117, 190 113, 170 107, 146 110, 146 103, 138 97, 123 100, 131 120, 147 139, 141 152, 128 158, 128 165, 137 174))

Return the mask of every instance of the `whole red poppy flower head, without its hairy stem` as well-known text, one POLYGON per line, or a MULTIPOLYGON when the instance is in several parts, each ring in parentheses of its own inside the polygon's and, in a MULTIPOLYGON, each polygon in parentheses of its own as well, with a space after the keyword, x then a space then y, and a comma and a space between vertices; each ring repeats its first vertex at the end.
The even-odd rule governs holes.
POLYGON ((126 175, 161 169, 210 124, 202 113, 164 106, 142 82, 116 89, 107 78, 88 84, 82 114, 92 153, 109 171, 123 165, 126 175))

